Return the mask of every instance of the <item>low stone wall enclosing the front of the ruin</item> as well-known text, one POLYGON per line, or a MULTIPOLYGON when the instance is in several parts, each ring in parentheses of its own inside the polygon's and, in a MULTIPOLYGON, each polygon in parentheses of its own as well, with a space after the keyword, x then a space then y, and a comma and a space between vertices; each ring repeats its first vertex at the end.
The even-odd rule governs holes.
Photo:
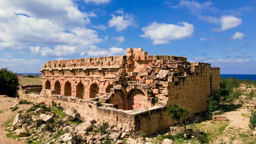
POLYGON ((135 131, 141 130, 153 134, 170 126, 166 117, 165 106, 155 106, 148 109, 120 110, 113 104, 84 100, 73 96, 55 95, 56 90, 42 89, 40 95, 29 94, 27 90, 18 90, 18 97, 32 102, 44 101, 51 105, 52 101, 61 104, 64 109, 74 108, 82 117, 91 116, 97 122, 109 122, 110 125, 127 124, 135 131))

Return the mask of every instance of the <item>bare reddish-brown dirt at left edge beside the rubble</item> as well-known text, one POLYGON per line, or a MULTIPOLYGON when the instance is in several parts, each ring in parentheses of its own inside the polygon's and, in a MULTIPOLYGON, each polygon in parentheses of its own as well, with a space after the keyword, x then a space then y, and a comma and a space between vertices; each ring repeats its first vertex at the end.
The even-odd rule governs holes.
POLYGON ((0 144, 25 144, 21 140, 16 141, 13 138, 6 137, 8 131, 5 131, 5 122, 8 119, 14 119, 18 111, 31 107, 31 104, 18 105, 18 110, 12 112, 10 107, 15 107, 19 103, 16 98, 3 97, 0 95, 0 144))

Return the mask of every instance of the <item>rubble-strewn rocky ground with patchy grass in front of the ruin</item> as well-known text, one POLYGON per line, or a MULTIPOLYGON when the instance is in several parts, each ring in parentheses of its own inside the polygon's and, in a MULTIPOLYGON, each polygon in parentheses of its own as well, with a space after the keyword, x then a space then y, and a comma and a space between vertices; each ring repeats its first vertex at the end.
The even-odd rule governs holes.
MULTIPOLYGON (((0 143, 10 144, 153 144, 153 143, 200 143, 195 138, 166 139, 174 135, 170 129, 146 136, 133 133, 127 125, 102 125, 92 118, 80 118, 75 110, 62 110, 44 104, 19 104, 18 99, 0 96, 0 143), (11 109, 12 108, 12 109, 11 109)), ((253 143, 255 138, 248 128, 250 111, 245 106, 224 113, 227 121, 210 121, 200 114, 201 121, 195 126, 207 135, 207 143, 253 143)), ((194 118, 200 116, 194 116, 194 118)), ((188 125, 189 127, 189 125, 188 125)), ((173 129, 172 129, 173 130, 173 129)))

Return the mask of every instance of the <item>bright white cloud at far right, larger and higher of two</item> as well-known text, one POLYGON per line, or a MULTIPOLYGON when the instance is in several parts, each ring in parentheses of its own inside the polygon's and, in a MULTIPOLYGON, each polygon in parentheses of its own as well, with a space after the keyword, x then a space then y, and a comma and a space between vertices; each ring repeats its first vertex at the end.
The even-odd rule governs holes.
POLYGON ((221 29, 212 29, 212 31, 224 31, 239 26, 241 24, 242 19, 239 19, 234 16, 221 16, 221 29))

